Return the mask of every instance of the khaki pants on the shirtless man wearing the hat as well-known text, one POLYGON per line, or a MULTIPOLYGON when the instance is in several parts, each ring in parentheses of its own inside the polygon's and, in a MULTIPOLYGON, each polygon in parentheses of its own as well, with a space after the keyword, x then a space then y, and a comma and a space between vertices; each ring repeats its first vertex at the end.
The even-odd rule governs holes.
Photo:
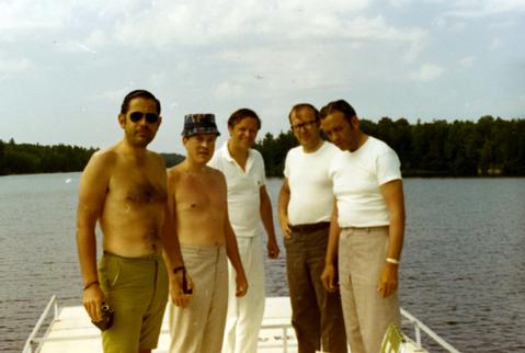
POLYGON ((228 305, 225 247, 181 246, 194 294, 186 308, 170 300, 171 353, 219 353, 228 305))

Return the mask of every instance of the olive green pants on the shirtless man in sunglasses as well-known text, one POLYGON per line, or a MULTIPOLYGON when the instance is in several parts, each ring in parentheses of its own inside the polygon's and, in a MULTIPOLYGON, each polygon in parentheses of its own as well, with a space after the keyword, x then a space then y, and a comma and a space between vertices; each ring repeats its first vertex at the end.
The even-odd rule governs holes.
POLYGON ((105 252, 99 278, 113 326, 102 332, 104 353, 157 348, 168 300, 168 274, 161 254, 123 258, 105 252))

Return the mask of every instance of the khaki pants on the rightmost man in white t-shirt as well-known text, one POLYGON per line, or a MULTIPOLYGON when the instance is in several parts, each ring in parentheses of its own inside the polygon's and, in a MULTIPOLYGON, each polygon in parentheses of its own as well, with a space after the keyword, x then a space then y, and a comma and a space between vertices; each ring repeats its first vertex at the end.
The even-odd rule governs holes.
POLYGON ((388 248, 388 227, 343 228, 339 276, 344 324, 352 353, 377 353, 390 322, 400 324, 398 293, 377 292, 388 248))

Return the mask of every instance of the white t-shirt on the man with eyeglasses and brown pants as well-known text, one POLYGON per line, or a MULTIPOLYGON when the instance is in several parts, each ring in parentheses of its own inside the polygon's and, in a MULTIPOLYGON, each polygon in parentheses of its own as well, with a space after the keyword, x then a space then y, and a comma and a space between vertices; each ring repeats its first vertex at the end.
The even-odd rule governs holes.
POLYGON ((288 179, 290 225, 330 221, 333 206, 332 180, 329 167, 340 149, 324 141, 315 152, 306 153, 301 146, 286 155, 284 175, 288 179))

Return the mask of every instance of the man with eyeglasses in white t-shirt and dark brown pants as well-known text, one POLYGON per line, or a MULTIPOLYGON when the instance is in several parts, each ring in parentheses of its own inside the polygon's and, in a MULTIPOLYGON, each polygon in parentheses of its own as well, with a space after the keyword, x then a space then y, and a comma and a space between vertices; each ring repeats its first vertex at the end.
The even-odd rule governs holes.
POLYGON ((286 248, 286 270, 300 353, 347 352, 341 298, 321 283, 332 214, 328 168, 339 150, 321 139, 318 110, 295 105, 289 123, 300 146, 288 151, 278 197, 278 219, 286 248))

